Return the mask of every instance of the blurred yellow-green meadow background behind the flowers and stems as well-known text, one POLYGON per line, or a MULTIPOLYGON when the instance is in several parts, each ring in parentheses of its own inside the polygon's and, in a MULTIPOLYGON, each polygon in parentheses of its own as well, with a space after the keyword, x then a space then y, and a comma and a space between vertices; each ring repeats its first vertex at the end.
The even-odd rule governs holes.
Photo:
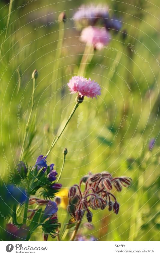
MULTIPOLYGON (((1 44, 5 37, 5 31, 2 31, 7 24, 8 2, 0 2, 1 44)), ((18 8, 25 2, 27 1, 13 1, 8 34, 1 53, 0 148, 7 159, 6 162, 4 155, 0 154, 1 177, 4 181, 8 179, 7 164, 12 169, 19 161, 26 119, 31 108, 32 71, 37 68, 39 77, 24 155, 29 165, 34 165, 38 155, 47 153, 53 135, 61 129, 74 106, 76 95, 70 94, 66 84, 73 75, 77 75, 84 47, 80 46, 80 32, 75 29, 74 21, 69 19, 65 23, 58 77, 54 80, 59 36, 59 23, 56 21, 62 11, 65 11, 67 18, 71 18, 81 4, 90 3, 33 0, 25 7, 18 8), (37 29, 44 24, 48 25, 37 29), (53 97, 50 99, 51 95, 53 97), (20 104, 18 131, 17 112, 20 104)), ((94 3, 98 4, 99 1, 94 3)), ((48 164, 55 163, 55 169, 59 172, 62 150, 64 147, 68 148, 61 178, 63 188, 67 189, 79 183, 83 175, 90 171, 96 173, 107 170, 113 172, 114 177, 128 176, 133 179, 131 189, 123 189, 120 194, 116 192, 120 203, 119 214, 115 215, 108 210, 93 211, 94 229, 86 230, 82 226, 82 235, 92 234, 98 241, 157 241, 160 225, 160 77, 156 62, 157 58, 160 62, 159 1, 101 0, 101 3, 107 4, 110 13, 122 20, 122 30, 125 30, 127 36, 124 38, 122 30, 117 34, 112 31, 112 40, 108 45, 112 49, 95 51, 85 77, 91 77, 100 84, 101 96, 97 100, 84 99, 47 160, 48 164), (148 63, 129 49, 129 43, 148 63), (96 63, 108 68, 102 68, 96 63), (111 68, 116 71, 113 72, 111 68), (116 74, 117 71, 119 75, 116 74), (127 121, 123 122, 123 127, 113 140, 123 115, 127 115, 127 121), (82 120, 77 128, 78 118, 82 120), (149 152, 146 144, 139 153, 148 137, 149 140, 153 137, 156 139, 153 150, 149 152)), ((60 207, 58 218, 62 222, 62 229, 66 222, 65 216, 66 210, 60 207)), ((65 239, 68 239, 68 235, 65 239)), ((34 233, 32 240, 41 241, 42 235, 34 233)))

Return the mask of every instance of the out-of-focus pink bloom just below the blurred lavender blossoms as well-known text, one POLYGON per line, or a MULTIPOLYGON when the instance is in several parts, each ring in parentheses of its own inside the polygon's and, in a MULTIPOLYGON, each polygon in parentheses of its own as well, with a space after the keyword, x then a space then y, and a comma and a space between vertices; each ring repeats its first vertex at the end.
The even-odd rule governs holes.
POLYGON ((110 33, 104 28, 86 27, 82 30, 80 41, 93 44, 96 49, 101 49, 104 45, 110 42, 110 33))

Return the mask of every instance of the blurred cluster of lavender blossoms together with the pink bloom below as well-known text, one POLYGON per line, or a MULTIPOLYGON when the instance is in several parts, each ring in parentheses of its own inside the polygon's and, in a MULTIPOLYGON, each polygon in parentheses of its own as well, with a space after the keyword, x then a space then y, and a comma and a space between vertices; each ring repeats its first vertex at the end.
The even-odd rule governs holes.
POLYGON ((83 28, 80 41, 99 50, 110 42, 109 30, 121 29, 121 21, 110 17, 108 7, 103 5, 82 5, 74 14, 74 20, 77 28, 83 28))

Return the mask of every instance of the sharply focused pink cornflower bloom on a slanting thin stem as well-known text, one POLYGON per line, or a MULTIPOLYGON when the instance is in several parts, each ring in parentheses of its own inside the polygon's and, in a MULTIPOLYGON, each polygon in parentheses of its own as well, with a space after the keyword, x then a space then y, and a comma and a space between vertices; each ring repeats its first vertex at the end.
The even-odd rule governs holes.
POLYGON ((78 92, 80 97, 87 96, 88 98, 97 98, 97 95, 101 95, 99 84, 91 80, 91 78, 87 79, 81 76, 74 76, 69 80, 68 87, 71 93, 78 92))

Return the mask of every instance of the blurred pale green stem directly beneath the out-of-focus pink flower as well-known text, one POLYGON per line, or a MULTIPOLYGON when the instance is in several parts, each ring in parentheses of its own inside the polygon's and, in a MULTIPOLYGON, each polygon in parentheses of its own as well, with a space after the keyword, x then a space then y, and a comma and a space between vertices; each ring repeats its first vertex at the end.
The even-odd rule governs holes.
POLYGON ((92 46, 86 46, 81 62, 80 62, 80 67, 79 67, 79 71, 78 71, 78 75, 83 76, 84 75, 84 71, 87 68, 89 62, 91 62, 92 57, 94 55, 94 49, 92 46))

